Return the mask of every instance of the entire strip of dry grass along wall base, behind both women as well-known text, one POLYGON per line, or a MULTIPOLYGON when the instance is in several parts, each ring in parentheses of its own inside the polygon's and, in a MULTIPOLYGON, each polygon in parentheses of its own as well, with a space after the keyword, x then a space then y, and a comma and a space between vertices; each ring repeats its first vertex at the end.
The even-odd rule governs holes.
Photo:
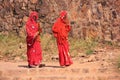
MULTIPOLYGON (((76 57, 80 52, 91 54, 96 46, 95 42, 69 38, 70 54, 76 57)), ((41 47, 43 59, 51 60, 58 56, 58 49, 55 38, 50 34, 41 35, 41 47)), ((16 57, 26 60, 26 42, 25 37, 17 37, 13 34, 8 36, 0 35, 0 56, 14 60, 16 57)))

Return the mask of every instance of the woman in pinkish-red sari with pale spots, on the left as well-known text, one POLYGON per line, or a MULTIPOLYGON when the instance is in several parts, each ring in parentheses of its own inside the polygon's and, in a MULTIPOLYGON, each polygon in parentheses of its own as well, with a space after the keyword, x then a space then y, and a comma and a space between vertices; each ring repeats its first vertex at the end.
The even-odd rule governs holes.
POLYGON ((29 19, 26 23, 26 41, 27 41, 27 58, 28 67, 42 66, 42 49, 40 46, 40 28, 38 22, 38 13, 33 11, 30 13, 29 19))

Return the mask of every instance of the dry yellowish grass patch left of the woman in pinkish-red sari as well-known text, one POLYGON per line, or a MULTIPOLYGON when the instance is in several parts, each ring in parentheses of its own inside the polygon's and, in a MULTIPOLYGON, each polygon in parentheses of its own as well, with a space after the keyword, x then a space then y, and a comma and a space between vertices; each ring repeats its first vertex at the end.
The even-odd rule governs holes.
POLYGON ((0 35, 0 56, 4 59, 13 60, 15 57, 25 58, 25 38, 13 34, 0 35))

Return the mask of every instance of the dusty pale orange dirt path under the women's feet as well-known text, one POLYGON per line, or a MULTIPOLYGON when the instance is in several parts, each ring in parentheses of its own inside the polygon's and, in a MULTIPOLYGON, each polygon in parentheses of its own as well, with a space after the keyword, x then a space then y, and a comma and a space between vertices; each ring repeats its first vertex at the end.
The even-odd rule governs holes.
POLYGON ((61 68, 59 63, 44 62, 43 68, 27 68, 27 62, 0 61, 0 80, 120 80, 114 59, 119 50, 99 51, 89 57, 74 59, 61 68))

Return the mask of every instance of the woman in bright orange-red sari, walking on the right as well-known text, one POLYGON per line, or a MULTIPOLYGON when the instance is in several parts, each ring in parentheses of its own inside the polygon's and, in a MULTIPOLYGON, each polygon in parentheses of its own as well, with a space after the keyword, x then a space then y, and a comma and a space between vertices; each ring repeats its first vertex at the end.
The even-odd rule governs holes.
POLYGON ((73 63, 69 55, 69 44, 67 38, 70 30, 71 27, 67 18, 67 12, 62 11, 60 13, 60 17, 52 27, 52 31, 57 40, 60 66, 69 66, 73 63))

